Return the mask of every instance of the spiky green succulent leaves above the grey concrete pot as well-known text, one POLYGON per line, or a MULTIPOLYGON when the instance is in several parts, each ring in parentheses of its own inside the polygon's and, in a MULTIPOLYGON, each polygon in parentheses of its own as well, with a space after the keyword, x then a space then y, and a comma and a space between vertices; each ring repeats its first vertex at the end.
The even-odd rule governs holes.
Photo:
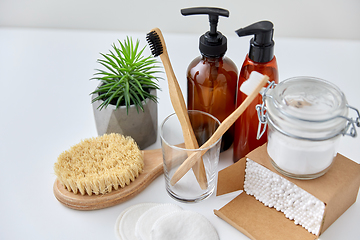
POLYGON ((102 100, 98 107, 100 110, 109 104, 116 106, 126 106, 128 113, 129 107, 135 105, 137 111, 144 111, 142 102, 149 98, 157 102, 157 97, 150 94, 152 89, 160 89, 156 76, 161 71, 158 70, 158 61, 151 55, 143 56, 145 47, 139 49, 139 39, 133 43, 132 38, 127 37, 124 42, 119 42, 119 47, 112 45, 110 53, 100 53, 104 59, 98 59, 105 70, 96 69, 94 77, 91 79, 99 80, 101 83, 91 94, 98 95, 92 100, 102 100))

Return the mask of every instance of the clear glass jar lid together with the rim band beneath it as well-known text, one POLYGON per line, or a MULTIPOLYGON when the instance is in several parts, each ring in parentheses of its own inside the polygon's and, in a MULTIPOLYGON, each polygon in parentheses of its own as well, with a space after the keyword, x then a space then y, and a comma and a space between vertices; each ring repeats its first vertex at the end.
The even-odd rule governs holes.
POLYGON ((334 84, 313 77, 294 77, 265 94, 269 124, 287 135, 327 139, 344 132, 348 106, 334 84))

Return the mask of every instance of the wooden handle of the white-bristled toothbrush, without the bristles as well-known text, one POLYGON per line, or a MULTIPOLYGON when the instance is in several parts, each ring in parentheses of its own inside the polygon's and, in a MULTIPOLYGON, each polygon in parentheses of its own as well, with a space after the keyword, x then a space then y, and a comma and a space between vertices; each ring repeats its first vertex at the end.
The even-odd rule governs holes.
POLYGON ((240 117, 240 115, 245 111, 245 109, 250 105, 250 103, 255 99, 255 97, 259 94, 260 90, 265 86, 268 82, 269 77, 264 76, 261 82, 256 86, 254 91, 242 102, 242 104, 231 113, 216 129, 214 134, 200 147, 201 149, 205 149, 201 152, 196 152, 191 154, 176 170, 174 175, 170 180, 171 185, 175 185, 188 171, 189 169, 196 164, 197 159, 200 156, 204 155, 212 144, 216 143, 221 136, 234 124, 234 122, 240 117))

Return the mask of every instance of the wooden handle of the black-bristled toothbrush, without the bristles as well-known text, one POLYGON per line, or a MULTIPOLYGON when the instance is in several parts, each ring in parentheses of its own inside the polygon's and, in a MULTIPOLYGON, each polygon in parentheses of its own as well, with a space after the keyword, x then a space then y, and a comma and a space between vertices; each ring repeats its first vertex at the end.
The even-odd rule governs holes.
MULTIPOLYGON (((163 41, 163 39, 162 39, 163 41)), ((191 126, 190 118, 187 112, 186 104, 184 101, 183 94, 181 92, 181 88, 179 86, 178 81, 176 80, 176 76, 173 72, 173 68, 170 63, 169 56, 167 54, 166 49, 164 49, 164 53, 160 55, 160 58, 163 62, 166 76, 168 79, 169 85, 169 94, 170 100, 175 110, 175 113, 179 119, 181 129, 184 136, 185 147, 187 149, 198 149, 199 144, 196 140, 194 130, 191 126)), ((190 155, 190 153, 188 154, 190 155)), ((201 156, 198 157, 198 160, 191 166, 195 177, 200 185, 200 188, 205 190, 208 187, 206 172, 204 162, 200 161, 201 156)))

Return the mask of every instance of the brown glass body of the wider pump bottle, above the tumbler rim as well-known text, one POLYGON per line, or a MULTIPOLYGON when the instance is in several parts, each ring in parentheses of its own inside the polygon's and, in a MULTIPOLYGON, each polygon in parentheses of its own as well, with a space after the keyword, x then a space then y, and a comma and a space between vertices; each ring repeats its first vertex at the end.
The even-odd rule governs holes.
MULTIPOLYGON (((200 110, 222 122, 235 110, 238 69, 226 57, 195 58, 187 69, 187 104, 189 110, 200 110)), ((222 137, 221 151, 234 139, 234 127, 222 137)))

